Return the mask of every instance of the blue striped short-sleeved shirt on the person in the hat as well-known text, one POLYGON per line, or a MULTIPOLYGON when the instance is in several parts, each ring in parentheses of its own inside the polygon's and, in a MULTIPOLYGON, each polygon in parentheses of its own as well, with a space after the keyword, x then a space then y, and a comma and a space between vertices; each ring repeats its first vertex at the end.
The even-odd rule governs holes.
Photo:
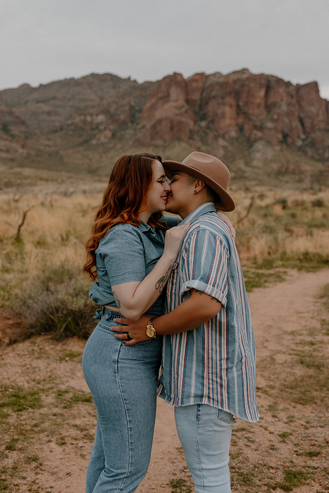
POLYGON ((158 395, 174 406, 209 404, 255 423, 254 333, 234 241, 212 203, 183 222, 191 226, 167 284, 166 311, 192 288, 216 298, 222 309, 194 330, 163 337, 158 395))

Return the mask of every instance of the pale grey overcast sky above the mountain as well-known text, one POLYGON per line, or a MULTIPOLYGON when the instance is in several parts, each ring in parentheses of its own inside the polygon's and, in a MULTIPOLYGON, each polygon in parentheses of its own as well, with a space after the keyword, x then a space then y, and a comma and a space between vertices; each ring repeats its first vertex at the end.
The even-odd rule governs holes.
POLYGON ((329 0, 0 0, 0 89, 244 67, 329 99, 329 0))

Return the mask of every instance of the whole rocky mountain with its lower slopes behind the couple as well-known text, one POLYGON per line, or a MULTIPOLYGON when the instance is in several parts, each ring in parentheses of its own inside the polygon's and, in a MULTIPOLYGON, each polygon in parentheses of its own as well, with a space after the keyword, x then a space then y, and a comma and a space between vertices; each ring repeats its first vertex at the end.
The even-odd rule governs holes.
POLYGON ((7 166, 102 174, 122 152, 146 148, 176 159, 212 152, 241 178, 263 163, 269 175, 321 180, 329 174, 329 102, 317 82, 247 69, 142 84, 90 74, 0 91, 7 166))

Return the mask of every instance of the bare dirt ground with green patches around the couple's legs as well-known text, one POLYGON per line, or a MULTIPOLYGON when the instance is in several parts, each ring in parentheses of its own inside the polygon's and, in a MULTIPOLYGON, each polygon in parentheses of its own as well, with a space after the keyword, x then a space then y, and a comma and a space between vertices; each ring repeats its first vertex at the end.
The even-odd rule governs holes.
MULTIPOLYGON (((329 269, 289 271, 249 294, 260 421, 236 420, 232 491, 329 492, 329 269)), ((96 413, 84 341, 39 336, 2 348, 0 492, 83 493, 96 413)), ((152 457, 138 493, 189 493, 173 408, 158 399, 152 457)))

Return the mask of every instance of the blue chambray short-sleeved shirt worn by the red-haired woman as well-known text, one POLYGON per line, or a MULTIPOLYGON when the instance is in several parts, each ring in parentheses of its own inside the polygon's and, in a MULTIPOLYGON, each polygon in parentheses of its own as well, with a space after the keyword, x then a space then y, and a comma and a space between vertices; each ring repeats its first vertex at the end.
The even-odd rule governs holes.
MULTIPOLYGON (((178 217, 164 216, 169 228, 177 226, 178 217)), ((145 222, 139 226, 116 224, 101 238, 96 249, 98 282, 89 290, 90 298, 101 306, 116 307, 112 286, 123 282, 143 281, 163 253, 164 234, 145 222)), ((153 316, 163 314, 165 290, 147 310, 153 316)))

